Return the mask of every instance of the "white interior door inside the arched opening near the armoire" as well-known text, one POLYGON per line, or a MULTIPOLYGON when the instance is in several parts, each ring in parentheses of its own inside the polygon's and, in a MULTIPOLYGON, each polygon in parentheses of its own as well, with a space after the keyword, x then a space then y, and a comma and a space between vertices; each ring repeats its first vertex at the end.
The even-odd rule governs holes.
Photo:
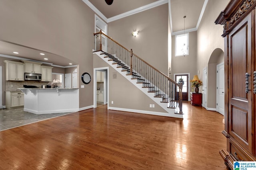
POLYGON ((220 63, 217 65, 217 75, 216 75, 216 83, 217 83, 217 90, 216 90, 216 111, 224 115, 224 63, 220 63))

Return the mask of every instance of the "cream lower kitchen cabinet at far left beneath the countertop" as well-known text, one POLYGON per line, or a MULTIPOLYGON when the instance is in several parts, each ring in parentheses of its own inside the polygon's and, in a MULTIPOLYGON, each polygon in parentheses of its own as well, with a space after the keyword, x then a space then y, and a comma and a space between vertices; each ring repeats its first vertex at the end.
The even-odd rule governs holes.
POLYGON ((15 109, 24 106, 24 93, 23 92, 6 92, 6 108, 15 109))

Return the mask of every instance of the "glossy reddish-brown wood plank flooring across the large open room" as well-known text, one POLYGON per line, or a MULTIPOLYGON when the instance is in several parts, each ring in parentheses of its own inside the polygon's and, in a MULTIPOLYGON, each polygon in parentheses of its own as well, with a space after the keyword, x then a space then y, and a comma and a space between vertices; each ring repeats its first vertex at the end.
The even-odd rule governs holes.
POLYGON ((223 116, 184 102, 184 120, 106 105, 0 132, 1 170, 226 170, 223 116))

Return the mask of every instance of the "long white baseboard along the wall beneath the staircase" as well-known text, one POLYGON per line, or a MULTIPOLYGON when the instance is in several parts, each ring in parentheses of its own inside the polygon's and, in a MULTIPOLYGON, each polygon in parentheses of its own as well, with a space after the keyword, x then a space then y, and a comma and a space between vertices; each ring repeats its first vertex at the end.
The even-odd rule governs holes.
POLYGON ((126 109, 126 108, 119 108, 119 107, 108 107, 108 109, 110 109, 110 110, 118 110, 118 111, 128 111, 128 112, 132 112, 132 113, 143 113, 143 114, 148 114, 148 115, 175 117, 175 118, 183 119, 183 115, 175 114, 175 113, 162 113, 162 112, 155 112, 155 111, 126 109))

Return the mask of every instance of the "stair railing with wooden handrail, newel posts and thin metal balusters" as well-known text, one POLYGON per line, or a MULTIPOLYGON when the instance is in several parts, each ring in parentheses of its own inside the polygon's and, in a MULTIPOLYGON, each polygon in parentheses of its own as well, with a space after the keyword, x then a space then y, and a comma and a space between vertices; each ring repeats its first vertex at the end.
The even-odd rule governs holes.
POLYGON ((94 33, 95 51, 111 56, 119 67, 129 72, 137 83, 142 83, 148 92, 154 92, 155 97, 162 97, 163 102, 169 103, 170 108, 176 108, 182 114, 182 84, 178 84, 151 64, 147 63, 131 50, 126 49, 108 35, 100 32, 94 33))

